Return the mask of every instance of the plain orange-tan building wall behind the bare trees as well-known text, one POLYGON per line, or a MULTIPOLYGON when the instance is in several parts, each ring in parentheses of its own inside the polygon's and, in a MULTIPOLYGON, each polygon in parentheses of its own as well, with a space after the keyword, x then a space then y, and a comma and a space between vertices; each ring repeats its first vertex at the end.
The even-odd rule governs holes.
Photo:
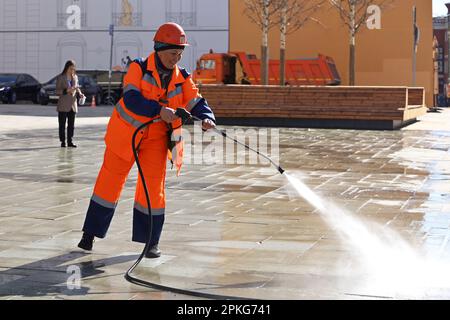
MULTIPOLYGON (((261 31, 243 14, 244 9, 243 1, 230 0, 230 50, 256 53, 260 57, 261 31)), ((342 84, 348 84, 348 28, 328 2, 313 17, 319 23, 310 22, 288 36, 287 58, 316 57, 318 53, 331 56, 342 84)), ((379 18, 379 26, 372 29, 363 27, 356 36, 356 85, 425 87, 427 105, 433 105, 432 2, 394 0, 389 7, 381 9, 379 18), (413 6, 417 8, 417 26, 420 29, 415 84, 413 6)), ((279 59, 279 41, 279 29, 274 27, 269 34, 272 59, 279 59)))

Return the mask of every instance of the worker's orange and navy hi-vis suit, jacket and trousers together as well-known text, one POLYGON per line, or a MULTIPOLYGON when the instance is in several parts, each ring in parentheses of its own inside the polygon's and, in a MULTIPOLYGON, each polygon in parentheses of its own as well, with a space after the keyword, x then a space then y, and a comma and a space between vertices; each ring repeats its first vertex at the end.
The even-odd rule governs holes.
MULTIPOLYGON (((124 95, 132 91, 135 95, 142 95, 146 99, 146 105, 151 106, 149 103, 153 103, 172 109, 182 107, 190 111, 200 100, 204 100, 191 76, 178 67, 172 73, 168 88, 161 88, 154 53, 148 57, 144 67, 138 62, 130 65, 124 78, 124 95)), ((169 129, 159 118, 159 112, 149 117, 133 112, 134 107, 136 106, 130 102, 127 105, 126 99, 122 98, 111 115, 105 135, 104 161, 97 177, 83 231, 99 238, 106 236, 121 191, 134 164, 131 147, 133 133, 141 124, 153 120, 150 126, 138 133, 135 143, 150 196, 153 225, 150 244, 154 245, 159 242, 165 217, 164 187, 169 129)), ((181 120, 174 121, 172 126, 180 128, 181 120)), ((176 158, 174 162, 179 173, 182 150, 171 151, 176 158)), ((150 233, 148 215, 144 188, 139 177, 133 208, 133 241, 147 242, 150 233)))

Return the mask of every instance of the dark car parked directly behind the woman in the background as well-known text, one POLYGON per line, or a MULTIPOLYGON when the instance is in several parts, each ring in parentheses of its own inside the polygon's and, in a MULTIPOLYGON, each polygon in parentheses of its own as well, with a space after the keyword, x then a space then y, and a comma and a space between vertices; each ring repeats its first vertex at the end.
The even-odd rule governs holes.
MULTIPOLYGON (((91 76, 86 74, 77 74, 78 84, 81 92, 86 96, 86 104, 92 103, 92 97, 95 97, 95 103, 102 103, 102 88, 97 84, 91 76)), ((50 102, 58 102, 59 97, 56 95, 56 78, 52 78, 42 85, 40 102, 42 105, 47 105, 50 102)))

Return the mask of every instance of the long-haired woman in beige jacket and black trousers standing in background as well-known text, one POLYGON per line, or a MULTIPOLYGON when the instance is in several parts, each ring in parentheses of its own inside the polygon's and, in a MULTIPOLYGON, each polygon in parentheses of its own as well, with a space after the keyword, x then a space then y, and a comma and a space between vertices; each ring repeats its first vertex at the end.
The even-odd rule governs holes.
POLYGON ((66 147, 66 120, 67 120, 67 146, 76 148, 73 144, 75 129, 75 116, 78 112, 77 94, 83 99, 84 95, 78 86, 75 61, 66 62, 63 72, 56 79, 56 94, 59 96, 56 111, 58 111, 59 140, 61 148, 66 147))

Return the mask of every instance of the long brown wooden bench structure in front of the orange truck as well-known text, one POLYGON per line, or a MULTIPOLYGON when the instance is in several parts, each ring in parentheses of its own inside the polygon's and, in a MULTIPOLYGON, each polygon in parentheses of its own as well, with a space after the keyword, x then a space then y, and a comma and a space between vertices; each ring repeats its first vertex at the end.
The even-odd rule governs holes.
POLYGON ((397 129, 427 112, 424 88, 200 85, 218 123, 397 129))

